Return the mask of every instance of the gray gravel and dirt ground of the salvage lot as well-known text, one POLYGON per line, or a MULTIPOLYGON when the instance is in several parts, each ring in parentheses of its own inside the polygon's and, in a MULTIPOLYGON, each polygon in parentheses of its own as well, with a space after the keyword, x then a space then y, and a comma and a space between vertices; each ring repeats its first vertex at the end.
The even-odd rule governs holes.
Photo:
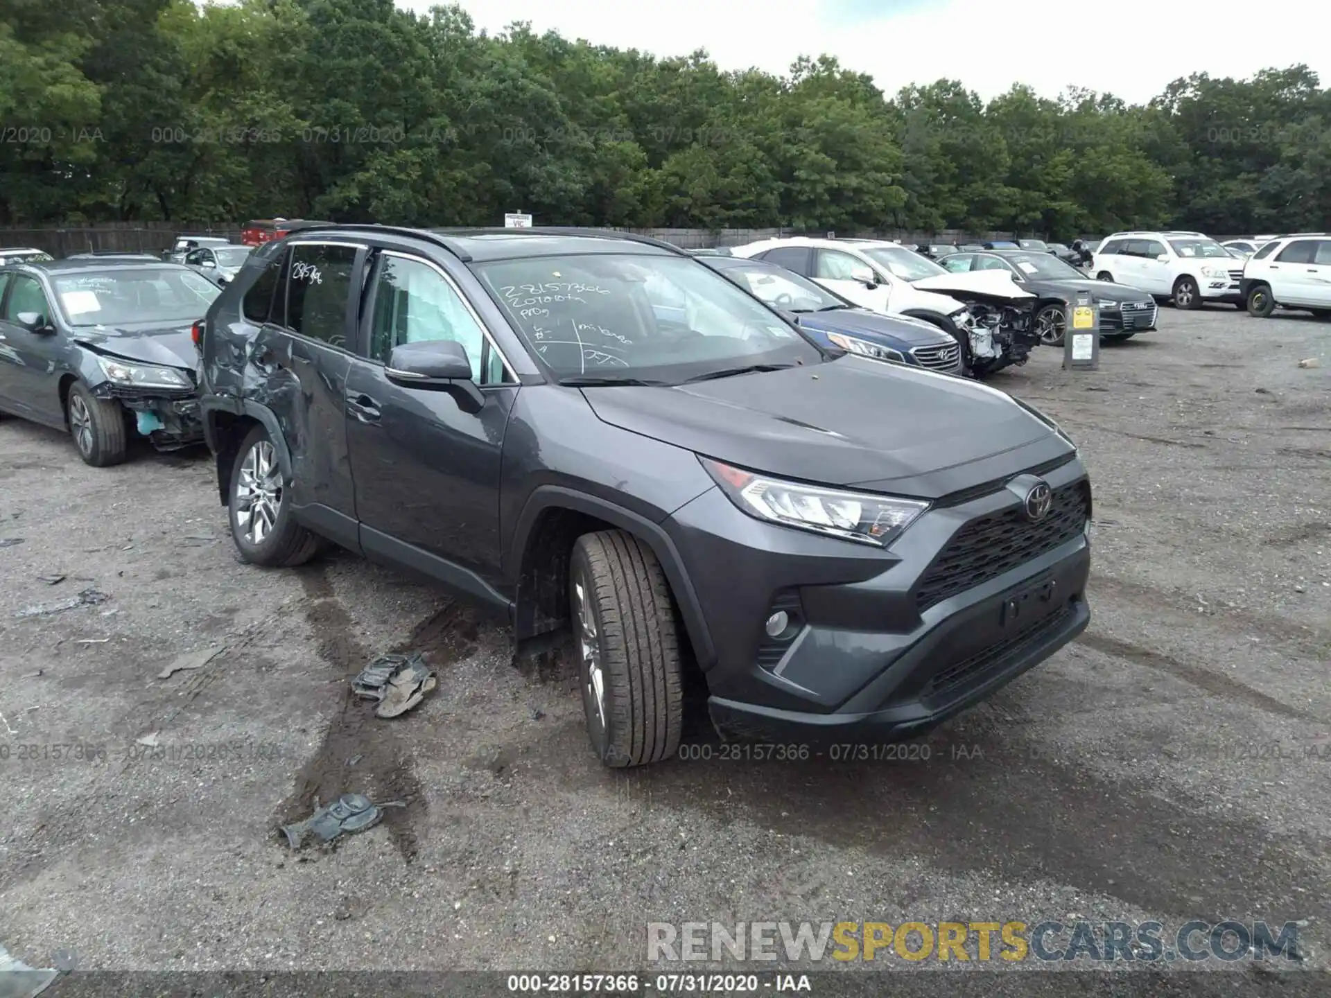
POLYGON ((503 627, 349 554, 238 563, 206 452, 95 470, 3 419, 0 945, 102 970, 595 971, 646 967, 648 922, 1235 918, 1298 921, 1303 973, 1134 987, 1327 994, 1328 346, 1311 318, 1163 309, 1095 373, 1041 349, 993 379, 1090 467, 1093 623, 910 761, 720 760, 693 720, 685 754, 711 758, 607 772, 568 677, 515 667, 503 627), (439 685, 382 721, 347 681, 394 649, 439 685), (278 825, 339 792, 407 806, 293 854, 278 825))

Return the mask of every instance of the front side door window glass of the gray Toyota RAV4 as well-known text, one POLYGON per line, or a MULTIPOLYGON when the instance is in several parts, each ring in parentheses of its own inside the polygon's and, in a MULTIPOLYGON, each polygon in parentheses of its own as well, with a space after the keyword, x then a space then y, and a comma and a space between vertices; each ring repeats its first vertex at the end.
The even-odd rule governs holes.
MULTIPOLYGON (((502 362, 482 375, 486 338, 466 305, 439 271, 417 259, 385 255, 375 279, 374 318, 370 325, 370 357, 387 362, 393 347, 451 339, 462 343, 478 385, 503 379, 502 362)), ((498 354, 496 354, 498 358, 498 354)))

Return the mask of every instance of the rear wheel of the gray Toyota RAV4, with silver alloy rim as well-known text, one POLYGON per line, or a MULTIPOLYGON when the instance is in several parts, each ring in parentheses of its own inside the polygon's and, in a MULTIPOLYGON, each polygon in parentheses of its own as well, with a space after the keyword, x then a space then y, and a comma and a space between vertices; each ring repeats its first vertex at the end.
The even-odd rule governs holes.
POLYGON ((236 455, 226 512, 236 550, 250 564, 287 568, 319 550, 318 536, 291 518, 290 482, 262 426, 249 431, 236 455))

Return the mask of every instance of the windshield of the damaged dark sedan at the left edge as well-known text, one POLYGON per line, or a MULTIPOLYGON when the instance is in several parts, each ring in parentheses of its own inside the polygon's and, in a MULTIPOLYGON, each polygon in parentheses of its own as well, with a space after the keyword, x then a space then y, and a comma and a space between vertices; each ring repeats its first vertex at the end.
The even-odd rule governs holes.
POLYGON ((101 270, 56 277, 71 326, 193 322, 222 291, 190 270, 101 270))

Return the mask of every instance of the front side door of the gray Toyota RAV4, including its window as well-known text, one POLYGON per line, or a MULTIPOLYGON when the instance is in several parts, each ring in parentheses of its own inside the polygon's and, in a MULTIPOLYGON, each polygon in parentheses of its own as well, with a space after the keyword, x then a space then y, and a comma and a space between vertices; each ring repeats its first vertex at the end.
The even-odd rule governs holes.
POLYGON ((499 471, 518 379, 453 278, 434 261, 375 250, 361 355, 347 379, 346 435, 361 547, 487 596, 500 575, 499 471), (450 339, 471 359, 484 405, 390 382, 401 343, 450 339))

